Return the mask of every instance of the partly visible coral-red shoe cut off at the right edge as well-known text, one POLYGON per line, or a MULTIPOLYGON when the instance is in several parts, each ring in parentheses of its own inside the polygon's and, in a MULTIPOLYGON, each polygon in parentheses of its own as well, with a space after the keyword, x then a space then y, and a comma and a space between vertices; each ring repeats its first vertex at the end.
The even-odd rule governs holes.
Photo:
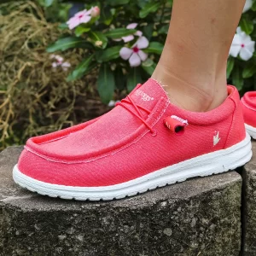
POLYGON ((247 132, 256 139, 256 91, 249 91, 241 98, 241 108, 247 132))

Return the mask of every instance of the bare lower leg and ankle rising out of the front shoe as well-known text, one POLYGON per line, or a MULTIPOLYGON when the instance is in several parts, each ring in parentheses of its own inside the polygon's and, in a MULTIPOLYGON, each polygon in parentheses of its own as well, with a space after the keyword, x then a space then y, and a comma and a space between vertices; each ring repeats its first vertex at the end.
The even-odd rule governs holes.
POLYGON ((174 0, 152 75, 180 108, 206 112, 227 97, 226 65, 245 0, 174 0))

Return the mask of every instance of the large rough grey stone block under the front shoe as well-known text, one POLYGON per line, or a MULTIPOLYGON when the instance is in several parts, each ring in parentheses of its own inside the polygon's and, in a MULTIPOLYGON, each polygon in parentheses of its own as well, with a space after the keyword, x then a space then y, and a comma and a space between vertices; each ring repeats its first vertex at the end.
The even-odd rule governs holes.
POLYGON ((0 255, 239 255, 241 177, 236 172, 121 201, 62 201, 15 185, 11 172, 20 150, 0 154, 0 255))

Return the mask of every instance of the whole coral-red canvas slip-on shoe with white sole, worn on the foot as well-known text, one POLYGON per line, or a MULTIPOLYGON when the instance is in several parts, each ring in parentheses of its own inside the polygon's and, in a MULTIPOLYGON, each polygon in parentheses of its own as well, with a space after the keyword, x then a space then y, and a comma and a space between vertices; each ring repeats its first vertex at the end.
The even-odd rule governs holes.
POLYGON ((138 84, 90 125, 32 137, 14 168, 22 187, 41 195, 112 200, 227 172, 252 157, 238 91, 218 108, 177 108, 154 79, 138 84))

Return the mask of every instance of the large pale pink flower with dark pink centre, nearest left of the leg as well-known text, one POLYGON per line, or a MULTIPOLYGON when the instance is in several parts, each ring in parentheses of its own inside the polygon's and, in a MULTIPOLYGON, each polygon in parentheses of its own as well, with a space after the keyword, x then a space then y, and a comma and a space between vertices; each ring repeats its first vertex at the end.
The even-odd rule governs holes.
POLYGON ((148 47, 148 39, 141 37, 137 39, 137 42, 133 44, 132 48, 123 47, 120 49, 119 55, 125 61, 129 59, 131 67, 138 67, 142 61, 146 61, 148 54, 144 53, 142 49, 148 47))

